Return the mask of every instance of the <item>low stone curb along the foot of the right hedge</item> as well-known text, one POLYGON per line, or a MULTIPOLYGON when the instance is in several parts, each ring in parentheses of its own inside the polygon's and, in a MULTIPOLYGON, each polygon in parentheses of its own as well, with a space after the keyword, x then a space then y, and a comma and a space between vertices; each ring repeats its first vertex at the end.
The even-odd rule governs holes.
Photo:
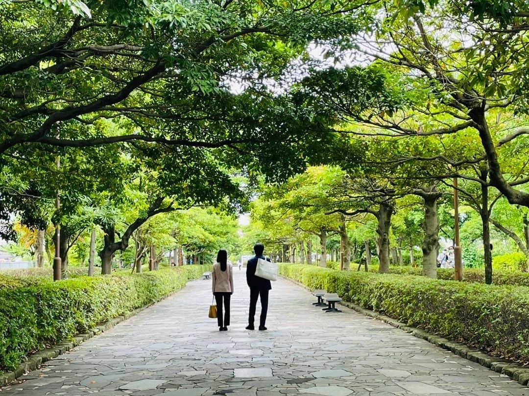
MULTIPOLYGON (((290 282, 293 282, 306 290, 312 291, 311 288, 308 288, 303 283, 297 282, 294 279, 284 277, 283 275, 280 276, 281 278, 287 279, 290 282)), ((375 312, 367 308, 362 308, 349 301, 342 301, 339 302, 339 304, 354 311, 360 312, 360 314, 384 321, 385 323, 393 327, 397 327, 403 331, 406 331, 406 333, 410 333, 417 338, 425 339, 427 342, 439 346, 443 349, 448 349, 452 353, 459 355, 471 362, 476 362, 482 366, 487 367, 487 369, 490 369, 500 374, 508 375, 514 381, 517 381, 520 385, 529 385, 529 367, 524 367, 515 364, 512 361, 507 361, 498 357, 487 355, 479 349, 470 348, 466 344, 454 342, 448 338, 428 333, 427 331, 424 331, 417 327, 408 326, 405 323, 399 322, 394 318, 382 315, 379 312, 375 312)))

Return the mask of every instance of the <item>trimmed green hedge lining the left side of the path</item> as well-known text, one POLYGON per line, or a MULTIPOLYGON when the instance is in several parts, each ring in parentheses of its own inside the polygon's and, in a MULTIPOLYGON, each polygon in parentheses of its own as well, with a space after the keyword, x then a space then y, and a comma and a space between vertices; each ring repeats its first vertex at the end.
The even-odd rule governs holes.
POLYGON ((59 282, 40 279, 29 286, 11 284, 10 288, 5 287, 8 277, 2 277, 0 370, 13 369, 24 356, 43 346, 156 302, 203 272, 204 266, 185 265, 133 275, 79 277, 59 282))

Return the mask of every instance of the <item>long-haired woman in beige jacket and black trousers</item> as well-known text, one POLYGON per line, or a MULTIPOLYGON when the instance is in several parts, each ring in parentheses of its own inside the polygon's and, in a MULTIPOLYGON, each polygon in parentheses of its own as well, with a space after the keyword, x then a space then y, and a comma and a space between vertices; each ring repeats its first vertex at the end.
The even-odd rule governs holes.
POLYGON ((233 293, 233 270, 227 265, 228 255, 225 250, 217 253, 217 262, 213 264, 211 279, 213 280, 213 295, 217 303, 217 323, 219 331, 226 331, 230 326, 230 298, 233 293), (224 318, 222 317, 222 303, 224 301, 224 318))

